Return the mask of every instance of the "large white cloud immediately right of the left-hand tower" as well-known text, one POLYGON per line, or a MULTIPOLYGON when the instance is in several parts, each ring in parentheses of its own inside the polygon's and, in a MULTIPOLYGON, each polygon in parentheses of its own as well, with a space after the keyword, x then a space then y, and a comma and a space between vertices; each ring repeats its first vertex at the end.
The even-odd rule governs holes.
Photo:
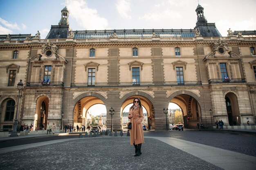
POLYGON ((68 1, 68 10, 70 17, 84 29, 106 29, 108 27, 108 20, 99 16, 96 9, 90 9, 85 0, 68 1))

